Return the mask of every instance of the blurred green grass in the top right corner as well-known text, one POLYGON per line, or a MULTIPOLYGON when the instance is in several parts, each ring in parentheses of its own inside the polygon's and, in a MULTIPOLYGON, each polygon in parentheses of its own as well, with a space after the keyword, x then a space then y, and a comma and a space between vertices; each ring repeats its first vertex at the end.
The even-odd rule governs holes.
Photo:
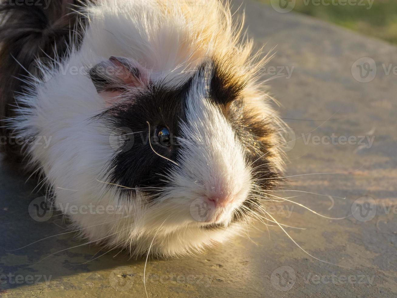
POLYGON ((397 44, 397 0, 296 0, 293 10, 397 44))

